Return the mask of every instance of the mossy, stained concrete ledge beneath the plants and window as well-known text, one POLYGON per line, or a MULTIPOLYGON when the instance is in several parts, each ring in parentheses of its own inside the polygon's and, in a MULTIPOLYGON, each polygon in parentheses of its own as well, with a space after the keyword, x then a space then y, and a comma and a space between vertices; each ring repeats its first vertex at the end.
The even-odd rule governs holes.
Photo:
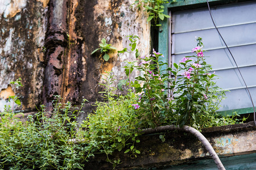
MULTIPOLYGON (((256 127, 253 122, 228 125, 203 130, 203 134, 222 157, 251 154, 256 152, 256 127)), ((211 159, 201 142, 192 134, 181 131, 166 131, 158 134, 142 135, 135 146, 141 154, 137 158, 129 154, 114 152, 110 159, 121 159, 117 169, 164 168, 202 159, 211 159), (166 138, 162 142, 159 135, 166 138)), ((85 169, 112 169, 104 154, 96 155, 85 169)))

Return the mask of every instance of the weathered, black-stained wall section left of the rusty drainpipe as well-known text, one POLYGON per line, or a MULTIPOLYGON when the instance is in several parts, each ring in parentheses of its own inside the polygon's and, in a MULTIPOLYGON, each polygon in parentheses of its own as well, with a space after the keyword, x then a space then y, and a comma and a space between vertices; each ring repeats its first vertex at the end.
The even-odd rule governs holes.
POLYGON ((8 84, 19 77, 24 86, 16 89, 22 101, 16 109, 31 111, 40 103, 46 13, 47 1, 0 1, 0 112, 14 95, 15 87, 8 84))

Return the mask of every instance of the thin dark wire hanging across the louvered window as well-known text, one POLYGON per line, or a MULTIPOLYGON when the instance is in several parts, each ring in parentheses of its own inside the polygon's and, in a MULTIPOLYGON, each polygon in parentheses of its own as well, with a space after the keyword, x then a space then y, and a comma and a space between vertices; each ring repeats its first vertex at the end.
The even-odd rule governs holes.
MULTIPOLYGON (((214 21, 213 21, 212 11, 210 11, 210 6, 209 6, 208 0, 207 0, 207 5, 208 5, 209 12, 210 12, 210 18, 212 18, 212 22, 213 22, 213 24, 214 24, 214 27, 216 28, 216 30, 217 30, 217 32, 218 32, 218 35, 220 35, 222 41, 223 41, 224 44, 226 45, 225 40, 224 40, 223 37, 221 36, 221 33, 218 31, 218 28, 216 27, 216 24, 215 24, 214 21)), ((232 58, 233 58, 233 60, 234 60, 234 63, 236 63, 236 66, 237 66, 237 62, 236 62, 236 60, 234 59, 233 54, 230 52, 230 49, 229 49, 228 45, 226 45, 226 48, 229 50, 229 53, 231 54, 231 56, 232 56, 232 58)), ((239 73, 240 73, 240 75, 241 75, 241 78, 243 79, 242 73, 241 73, 241 71, 240 71, 240 69, 239 69, 238 66, 237 66, 237 69, 238 69, 238 71, 239 71, 239 73)), ((248 94, 249 94, 249 96, 250 96, 251 104, 253 105, 253 120, 254 120, 254 125, 256 126, 256 120, 255 120, 255 117, 256 117, 256 116, 255 116, 255 107, 254 107, 254 104, 253 104, 253 98, 251 97, 251 94, 250 94, 250 91, 249 91, 249 89, 248 89, 248 87, 247 87, 247 84, 246 84, 246 82, 245 82, 245 79, 243 79, 243 83, 245 83, 246 90, 248 91, 248 94)))

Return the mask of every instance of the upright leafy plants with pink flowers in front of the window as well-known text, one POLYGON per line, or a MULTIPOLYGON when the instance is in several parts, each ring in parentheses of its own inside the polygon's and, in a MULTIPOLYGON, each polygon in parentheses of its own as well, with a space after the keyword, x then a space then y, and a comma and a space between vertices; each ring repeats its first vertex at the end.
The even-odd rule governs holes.
POLYGON ((159 61, 163 56, 155 51, 136 66, 143 76, 136 77, 133 84, 140 94, 134 108, 144 127, 175 124, 201 129, 216 125, 216 111, 225 91, 216 86, 216 75, 210 73, 212 67, 204 59, 201 38, 197 41, 192 49, 196 55, 184 57, 172 68, 163 70, 167 63, 159 61))

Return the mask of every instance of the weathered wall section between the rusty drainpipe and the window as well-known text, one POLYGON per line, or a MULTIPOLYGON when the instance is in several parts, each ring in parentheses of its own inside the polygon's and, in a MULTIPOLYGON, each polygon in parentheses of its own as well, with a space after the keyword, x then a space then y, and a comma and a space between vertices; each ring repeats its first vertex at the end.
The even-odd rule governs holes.
MULTIPOLYGON (((82 49, 77 52, 82 55, 80 62, 83 75, 81 76, 80 97, 84 96, 89 101, 100 99, 98 92, 101 88, 98 83, 101 81, 101 74, 105 71, 113 71, 117 79, 114 86, 117 85, 118 80, 125 78, 122 67, 125 66, 124 61, 129 60, 129 54, 125 53, 118 57, 115 51, 110 54, 108 62, 100 58, 99 53, 90 55, 94 49, 98 48, 103 38, 118 50, 122 50, 129 46, 126 36, 137 35, 140 38, 139 51, 142 55, 148 54, 150 25, 146 23, 145 13, 137 12, 134 7, 130 7, 133 2, 129 0, 79 1, 75 13, 77 20, 75 27, 76 48, 82 49)), ((135 55, 131 57, 132 60, 135 59, 135 55)))

